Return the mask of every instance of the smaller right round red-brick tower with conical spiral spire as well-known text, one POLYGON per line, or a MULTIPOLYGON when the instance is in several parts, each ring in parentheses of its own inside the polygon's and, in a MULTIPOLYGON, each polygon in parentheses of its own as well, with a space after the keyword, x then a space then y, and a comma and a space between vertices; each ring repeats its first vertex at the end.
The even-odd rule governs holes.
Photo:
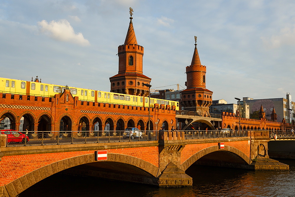
POLYGON ((195 50, 191 65, 186 67, 186 89, 181 91, 183 110, 209 115, 213 92, 206 89, 206 66, 201 65, 195 37, 195 50))

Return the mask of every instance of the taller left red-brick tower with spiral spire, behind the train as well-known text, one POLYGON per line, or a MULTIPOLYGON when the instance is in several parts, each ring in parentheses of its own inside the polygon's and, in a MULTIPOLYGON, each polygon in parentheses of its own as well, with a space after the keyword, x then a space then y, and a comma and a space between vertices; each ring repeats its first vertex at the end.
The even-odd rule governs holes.
POLYGON ((118 74, 110 77, 111 92, 148 96, 149 89, 144 83, 150 84, 151 78, 143 75, 142 72, 143 47, 137 44, 132 12, 130 8, 131 17, 125 42, 118 47, 118 74))

